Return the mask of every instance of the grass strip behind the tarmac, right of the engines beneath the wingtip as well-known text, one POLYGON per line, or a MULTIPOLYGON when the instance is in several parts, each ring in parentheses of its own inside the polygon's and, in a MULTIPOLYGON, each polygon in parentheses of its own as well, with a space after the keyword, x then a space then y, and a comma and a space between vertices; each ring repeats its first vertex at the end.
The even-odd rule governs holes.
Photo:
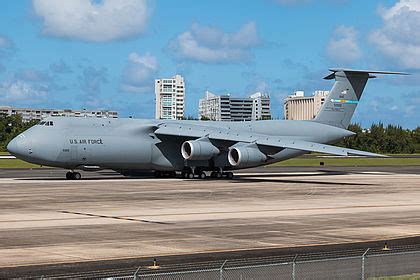
POLYGON ((271 166, 408 166, 420 165, 420 158, 319 158, 298 157, 272 164, 271 166))

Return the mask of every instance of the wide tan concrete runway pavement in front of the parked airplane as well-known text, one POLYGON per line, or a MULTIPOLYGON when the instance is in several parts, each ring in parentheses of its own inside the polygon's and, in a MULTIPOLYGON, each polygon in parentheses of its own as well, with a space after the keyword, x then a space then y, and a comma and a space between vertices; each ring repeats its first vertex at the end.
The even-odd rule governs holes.
POLYGON ((270 167, 233 180, 105 171, 66 181, 62 170, 1 170, 0 268, 417 236, 418 171, 270 167))

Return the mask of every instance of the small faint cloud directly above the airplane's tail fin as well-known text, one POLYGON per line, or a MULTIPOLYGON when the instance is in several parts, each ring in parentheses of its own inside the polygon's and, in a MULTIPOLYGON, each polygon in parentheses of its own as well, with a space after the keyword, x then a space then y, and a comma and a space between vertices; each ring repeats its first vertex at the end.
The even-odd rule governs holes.
POLYGON ((351 63, 362 57, 357 44, 357 31, 353 27, 339 26, 334 30, 326 47, 327 56, 336 62, 351 63))

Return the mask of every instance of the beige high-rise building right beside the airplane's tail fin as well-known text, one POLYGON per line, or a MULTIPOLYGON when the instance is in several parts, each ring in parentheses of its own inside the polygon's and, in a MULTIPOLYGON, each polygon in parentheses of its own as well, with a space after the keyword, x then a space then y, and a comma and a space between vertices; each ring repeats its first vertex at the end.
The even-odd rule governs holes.
POLYGON ((284 118, 286 120, 312 120, 321 110, 330 92, 317 90, 312 96, 303 91, 295 91, 284 99, 284 118))

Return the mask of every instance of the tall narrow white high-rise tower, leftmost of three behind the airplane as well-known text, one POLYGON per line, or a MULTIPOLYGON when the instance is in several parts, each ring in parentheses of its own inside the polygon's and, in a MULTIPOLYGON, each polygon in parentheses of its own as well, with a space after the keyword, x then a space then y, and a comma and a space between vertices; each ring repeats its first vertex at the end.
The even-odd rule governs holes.
POLYGON ((184 118, 185 84, 181 75, 155 80, 156 119, 184 118))

